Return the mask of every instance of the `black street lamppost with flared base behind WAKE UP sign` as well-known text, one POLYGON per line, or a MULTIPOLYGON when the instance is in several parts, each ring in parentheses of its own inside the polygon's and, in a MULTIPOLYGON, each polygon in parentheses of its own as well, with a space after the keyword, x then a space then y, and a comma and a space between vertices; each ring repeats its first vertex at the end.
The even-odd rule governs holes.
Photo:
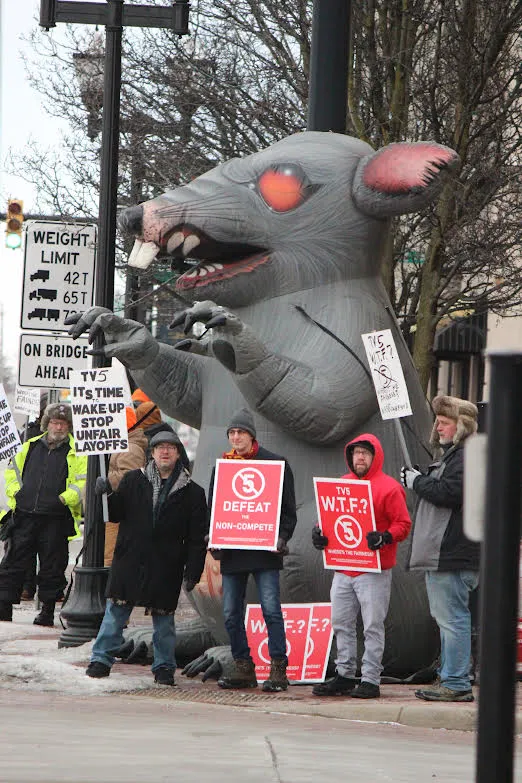
MULTIPOLYGON (((96 262, 96 304, 113 308, 118 194, 120 129, 121 43, 124 0, 108 0, 105 27, 102 154, 99 207, 99 243, 96 262)), ((93 366, 108 364, 94 357, 93 366)), ((76 647, 97 635, 105 611, 108 569, 103 567, 105 529, 101 500, 94 494, 98 460, 88 458, 85 501, 84 553, 82 566, 75 569, 74 590, 62 611, 67 628, 59 647, 76 647)))

